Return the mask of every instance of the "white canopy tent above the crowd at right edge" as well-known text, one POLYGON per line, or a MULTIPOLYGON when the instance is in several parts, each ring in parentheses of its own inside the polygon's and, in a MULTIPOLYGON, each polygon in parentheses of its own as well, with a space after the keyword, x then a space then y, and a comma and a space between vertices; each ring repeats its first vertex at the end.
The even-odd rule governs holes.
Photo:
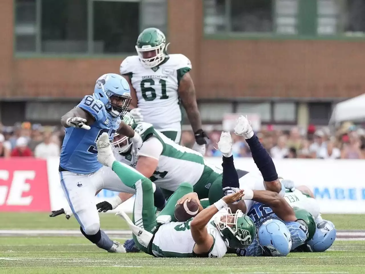
POLYGON ((330 124, 344 121, 365 121, 365 94, 343 101, 335 106, 330 124))

